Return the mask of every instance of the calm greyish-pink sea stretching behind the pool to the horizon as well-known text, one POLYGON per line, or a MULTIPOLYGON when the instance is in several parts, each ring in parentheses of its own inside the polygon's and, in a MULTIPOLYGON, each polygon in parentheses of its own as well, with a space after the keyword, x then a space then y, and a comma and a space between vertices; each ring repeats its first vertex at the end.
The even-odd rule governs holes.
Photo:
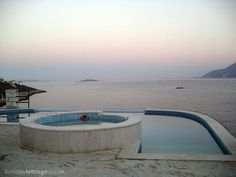
POLYGON ((236 137, 236 79, 32 82, 31 97, 45 109, 183 109, 207 114, 236 137), (184 86, 178 90, 176 86, 184 86))

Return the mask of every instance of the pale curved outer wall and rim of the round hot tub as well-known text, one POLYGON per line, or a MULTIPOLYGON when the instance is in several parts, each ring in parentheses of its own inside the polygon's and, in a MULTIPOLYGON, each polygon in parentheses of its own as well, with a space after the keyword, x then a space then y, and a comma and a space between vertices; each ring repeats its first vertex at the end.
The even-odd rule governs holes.
POLYGON ((38 116, 20 121, 20 145, 24 148, 44 152, 80 153, 124 148, 141 139, 139 118, 129 117, 124 122, 114 124, 63 127, 40 125, 35 122, 37 119, 38 116))

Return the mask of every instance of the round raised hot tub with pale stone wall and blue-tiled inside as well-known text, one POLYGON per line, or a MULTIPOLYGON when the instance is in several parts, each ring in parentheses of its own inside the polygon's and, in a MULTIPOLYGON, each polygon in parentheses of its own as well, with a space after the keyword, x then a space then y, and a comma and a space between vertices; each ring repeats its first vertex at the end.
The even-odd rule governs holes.
POLYGON ((56 153, 124 148, 141 139, 141 119, 104 112, 34 115, 20 121, 20 145, 56 153))

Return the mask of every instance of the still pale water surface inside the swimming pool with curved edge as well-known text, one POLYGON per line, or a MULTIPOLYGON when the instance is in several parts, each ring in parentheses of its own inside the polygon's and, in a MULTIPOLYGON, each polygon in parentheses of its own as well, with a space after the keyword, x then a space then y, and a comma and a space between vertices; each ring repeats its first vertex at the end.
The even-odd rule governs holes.
POLYGON ((223 154, 201 124, 180 117, 146 115, 141 153, 223 154))

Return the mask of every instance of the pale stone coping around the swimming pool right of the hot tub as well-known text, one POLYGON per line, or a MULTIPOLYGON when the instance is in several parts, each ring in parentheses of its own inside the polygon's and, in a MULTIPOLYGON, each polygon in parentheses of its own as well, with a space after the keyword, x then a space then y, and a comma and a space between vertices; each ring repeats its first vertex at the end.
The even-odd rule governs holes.
MULTIPOLYGON (((117 155, 118 159, 130 159, 130 160, 191 160, 191 161, 236 161, 236 138, 234 138, 220 123, 213 118, 204 115, 202 113, 183 111, 183 110, 169 110, 169 109, 145 109, 147 111, 156 111, 160 114, 167 115, 165 113, 173 112, 180 114, 194 115, 200 118, 205 126, 209 126, 213 133, 218 137, 226 148, 230 151, 230 155, 214 155, 214 154, 163 154, 163 153, 138 153, 141 141, 137 144, 132 144, 125 149, 121 149, 117 155), (161 114, 163 113, 163 114, 161 114)), ((150 114, 149 114, 150 115, 150 114)), ((187 118, 187 117, 184 117, 187 118)), ((208 130, 209 131, 209 130, 208 130)), ((211 134, 212 135, 212 134, 211 134)))

